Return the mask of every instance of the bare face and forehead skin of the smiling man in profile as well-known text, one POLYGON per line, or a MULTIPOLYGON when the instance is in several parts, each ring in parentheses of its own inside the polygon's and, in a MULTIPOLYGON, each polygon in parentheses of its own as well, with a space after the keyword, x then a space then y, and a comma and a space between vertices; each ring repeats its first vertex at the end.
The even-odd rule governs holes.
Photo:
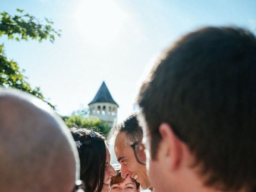
POLYGON ((142 189, 150 188, 151 184, 147 176, 146 166, 138 163, 132 147, 126 146, 126 139, 126 134, 120 132, 116 136, 114 145, 116 157, 121 164, 122 178, 130 176, 140 183, 142 189))

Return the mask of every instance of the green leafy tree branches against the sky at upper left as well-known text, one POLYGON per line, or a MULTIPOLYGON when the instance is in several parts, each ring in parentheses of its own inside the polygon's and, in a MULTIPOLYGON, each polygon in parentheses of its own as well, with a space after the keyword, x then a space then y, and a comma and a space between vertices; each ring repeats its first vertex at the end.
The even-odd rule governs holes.
MULTIPOLYGON (((45 18, 46 24, 41 24, 40 20, 29 14, 24 14, 23 10, 17 9, 19 15, 11 16, 6 12, 0 13, 0 37, 8 36, 8 39, 20 40, 42 40, 49 39, 54 42, 55 35, 60 36, 60 30, 52 28, 53 22, 45 18)), ((20 69, 18 64, 8 59, 4 52, 4 44, 0 44, 0 86, 17 88, 33 94, 48 103, 52 108, 54 105, 48 102, 40 87, 31 88, 28 78, 24 76, 25 70, 20 69)))

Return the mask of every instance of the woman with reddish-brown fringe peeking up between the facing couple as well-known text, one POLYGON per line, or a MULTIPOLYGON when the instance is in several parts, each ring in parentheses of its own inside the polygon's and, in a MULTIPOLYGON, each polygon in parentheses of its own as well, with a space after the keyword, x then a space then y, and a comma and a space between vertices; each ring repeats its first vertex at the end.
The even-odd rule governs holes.
POLYGON ((116 176, 111 179, 111 192, 140 192, 140 184, 131 177, 122 178, 121 170, 116 169, 116 176))

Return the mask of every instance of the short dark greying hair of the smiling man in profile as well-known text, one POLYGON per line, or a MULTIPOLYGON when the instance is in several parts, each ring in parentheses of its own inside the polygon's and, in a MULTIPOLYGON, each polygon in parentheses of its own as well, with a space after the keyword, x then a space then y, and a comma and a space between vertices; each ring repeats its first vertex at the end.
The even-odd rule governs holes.
POLYGON ((142 127, 138 123, 138 113, 132 113, 123 122, 114 127, 113 137, 116 137, 121 132, 126 134, 126 145, 130 146, 130 142, 138 142, 143 138, 142 127))

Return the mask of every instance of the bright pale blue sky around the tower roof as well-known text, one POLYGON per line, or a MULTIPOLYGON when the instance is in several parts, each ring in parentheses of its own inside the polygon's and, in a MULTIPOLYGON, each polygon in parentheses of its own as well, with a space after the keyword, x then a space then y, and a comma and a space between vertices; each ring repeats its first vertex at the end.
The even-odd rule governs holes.
POLYGON ((54 44, 0 37, 8 58, 60 115, 87 107, 105 81, 118 103, 118 122, 158 55, 204 26, 240 26, 256 34, 255 0, 0 0, 0 12, 24 10, 62 30, 54 44))

